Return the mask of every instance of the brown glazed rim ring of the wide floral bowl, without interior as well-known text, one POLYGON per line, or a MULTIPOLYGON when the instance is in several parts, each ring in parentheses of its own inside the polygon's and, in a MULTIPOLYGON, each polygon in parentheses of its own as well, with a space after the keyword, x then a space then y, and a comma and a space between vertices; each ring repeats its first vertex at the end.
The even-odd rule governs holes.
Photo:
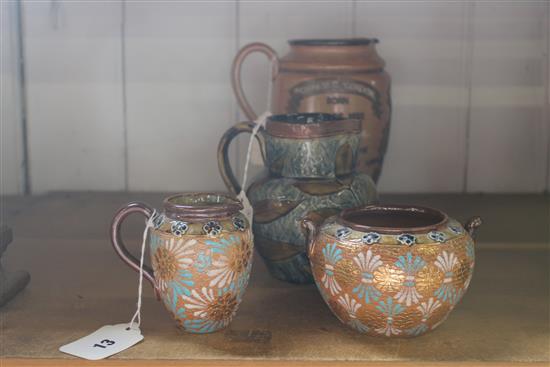
POLYGON ((349 208, 344 209, 338 215, 337 221, 340 224, 343 224, 347 227, 350 227, 356 231, 360 232, 377 232, 377 233, 388 233, 388 234, 397 234, 397 233, 426 233, 433 229, 439 228, 445 225, 449 221, 447 214, 441 210, 418 205, 367 205, 359 208, 349 208), (382 213, 407 213, 410 215, 423 214, 423 215, 432 215, 438 220, 433 223, 424 225, 424 226, 411 226, 411 227, 392 227, 392 226, 370 226, 365 224, 358 224, 353 221, 348 220, 351 215, 361 214, 366 212, 382 212, 382 213))

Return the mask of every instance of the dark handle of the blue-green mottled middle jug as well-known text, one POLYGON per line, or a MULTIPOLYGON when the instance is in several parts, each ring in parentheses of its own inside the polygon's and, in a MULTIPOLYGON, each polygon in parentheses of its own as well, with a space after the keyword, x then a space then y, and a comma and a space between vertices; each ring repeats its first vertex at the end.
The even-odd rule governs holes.
MULTIPOLYGON (((222 176, 225 186, 235 195, 238 195, 241 192, 241 185, 239 181, 235 178, 233 169, 231 168, 231 163, 229 162, 229 145, 233 139, 241 133, 250 133, 252 134, 256 124, 251 121, 241 122, 230 128, 223 134, 218 144, 218 169, 220 170, 220 175, 222 176)), ((265 162, 265 140, 263 135, 264 128, 260 127, 260 130, 255 135, 258 144, 260 145, 260 152, 262 154, 262 159, 265 162)))

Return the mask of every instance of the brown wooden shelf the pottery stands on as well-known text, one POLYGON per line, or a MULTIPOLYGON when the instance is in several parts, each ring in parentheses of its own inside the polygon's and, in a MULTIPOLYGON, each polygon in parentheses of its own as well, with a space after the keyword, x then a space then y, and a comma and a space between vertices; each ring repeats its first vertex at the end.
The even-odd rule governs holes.
MULTIPOLYGON (((71 194, 5 201, 4 218, 13 226, 14 242, 3 262, 8 270, 30 271, 32 278, 27 289, 1 310, 2 363, 80 363, 60 353, 59 346, 100 326, 129 320, 136 302, 137 274, 115 256, 107 237, 110 217, 128 199, 129 195, 71 194)), ((156 204, 157 199, 150 201, 156 204)), ((128 230, 133 233, 127 242, 132 238, 137 242, 142 223, 142 219, 130 223, 128 230)), ((547 244, 526 244, 494 250, 498 246, 481 243, 474 278, 462 302, 440 328, 416 339, 387 340, 348 330, 314 286, 276 281, 258 258, 234 322, 226 331, 210 335, 176 329, 146 285, 145 340, 104 363, 141 360, 138 365, 153 365, 150 360, 157 360, 154 363, 161 365, 207 366, 222 360, 228 365, 239 360, 266 364, 293 360, 295 365, 328 361, 547 365, 549 252, 547 244)), ((129 247, 138 248, 137 243, 129 247)))

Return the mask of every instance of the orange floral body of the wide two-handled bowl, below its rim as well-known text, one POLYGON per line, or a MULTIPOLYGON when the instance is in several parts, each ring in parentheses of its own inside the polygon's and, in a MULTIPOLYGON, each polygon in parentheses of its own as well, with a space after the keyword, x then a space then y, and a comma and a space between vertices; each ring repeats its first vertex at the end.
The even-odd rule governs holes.
MULTIPOLYGON (((403 220, 398 217, 394 223, 403 220)), ((332 217, 312 231, 318 233, 309 248, 313 275, 334 315, 374 336, 418 336, 440 325, 472 278, 475 251, 468 231, 444 215, 422 227, 353 223, 332 217)))

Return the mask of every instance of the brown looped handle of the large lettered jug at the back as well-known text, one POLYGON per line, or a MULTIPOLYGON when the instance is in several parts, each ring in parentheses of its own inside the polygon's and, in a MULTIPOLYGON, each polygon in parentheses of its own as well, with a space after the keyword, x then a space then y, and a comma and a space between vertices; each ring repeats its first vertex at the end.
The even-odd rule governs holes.
MULTIPOLYGON (((237 102, 239 103, 239 106, 249 120, 256 120, 258 118, 258 115, 256 115, 256 113, 254 112, 244 94, 243 86, 241 83, 241 69, 243 61, 248 55, 253 52, 261 52, 266 55, 267 58, 271 61, 272 80, 275 79, 279 69, 279 58, 277 56, 277 53, 265 43, 250 43, 241 48, 239 53, 235 56, 235 59, 233 60, 233 65, 231 67, 231 86, 233 87, 233 92, 235 93, 235 97, 237 97, 237 102)), ((270 103, 270 101, 268 103, 270 103)))

